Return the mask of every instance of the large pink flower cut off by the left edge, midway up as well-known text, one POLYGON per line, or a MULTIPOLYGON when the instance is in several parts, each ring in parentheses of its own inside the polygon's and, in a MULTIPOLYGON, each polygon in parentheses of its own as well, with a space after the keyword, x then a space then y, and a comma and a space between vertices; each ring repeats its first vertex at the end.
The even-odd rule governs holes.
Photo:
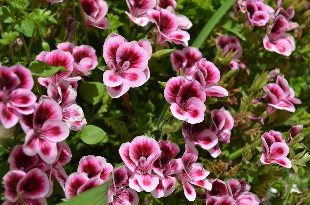
POLYGON ((34 112, 33 84, 31 72, 24 66, 0 67, 0 122, 4 128, 17 124, 20 115, 34 112))

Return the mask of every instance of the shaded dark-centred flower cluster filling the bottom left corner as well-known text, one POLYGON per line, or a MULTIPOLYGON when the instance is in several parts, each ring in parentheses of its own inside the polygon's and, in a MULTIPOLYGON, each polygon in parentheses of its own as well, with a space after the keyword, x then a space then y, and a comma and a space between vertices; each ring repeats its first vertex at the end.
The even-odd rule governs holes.
POLYGON ((10 171, 3 177, 8 199, 3 204, 42 204, 52 194, 53 178, 62 188, 68 175, 62 167, 71 160, 71 150, 67 143, 57 143, 57 157, 47 163, 38 155, 28 156, 22 145, 16 146, 8 158, 10 171), (48 177, 49 176, 49 177, 48 177))

